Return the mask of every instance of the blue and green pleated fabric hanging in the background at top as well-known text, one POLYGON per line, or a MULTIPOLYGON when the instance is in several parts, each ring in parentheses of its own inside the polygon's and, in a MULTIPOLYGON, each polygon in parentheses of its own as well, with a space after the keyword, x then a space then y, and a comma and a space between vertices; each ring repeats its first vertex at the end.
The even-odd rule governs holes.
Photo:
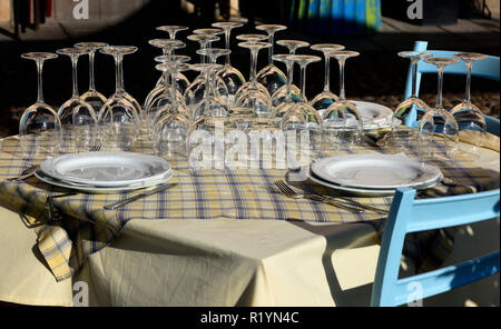
POLYGON ((381 0, 293 0, 291 23, 314 34, 367 34, 381 29, 381 0))

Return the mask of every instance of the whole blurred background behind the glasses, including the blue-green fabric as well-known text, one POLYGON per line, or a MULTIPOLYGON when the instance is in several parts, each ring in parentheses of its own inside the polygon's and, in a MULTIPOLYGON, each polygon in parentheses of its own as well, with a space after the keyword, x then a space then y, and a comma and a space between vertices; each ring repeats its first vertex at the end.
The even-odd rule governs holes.
MULTIPOLYGON (((409 68, 409 62, 396 53, 411 50, 414 41, 429 41, 429 49, 499 56, 499 0, 0 0, 0 138, 18 133, 19 117, 36 100, 36 67, 32 61, 21 59, 21 53, 55 52, 80 41, 137 46, 139 51, 125 59, 125 84, 127 91, 143 102, 159 77, 154 58, 160 53, 148 40, 168 38, 156 27, 184 24, 193 30, 219 20, 247 21, 244 28, 233 31, 232 38, 232 63, 246 78, 248 51, 237 47, 235 36, 253 32, 259 23, 282 23, 288 29, 278 32, 275 40, 340 43, 358 51, 361 56, 346 66, 347 98, 391 108, 402 101, 409 68), (419 8, 410 8, 414 4, 419 8), (410 19, 410 10, 422 14, 422 19, 410 19)), ((178 39, 187 43, 179 53, 191 56, 196 62, 198 44, 186 40, 188 33, 178 34, 178 39)), ((224 41, 214 47, 224 48, 224 41)), ((275 46, 275 53, 285 52, 285 48, 275 46)), ((310 49, 301 49, 298 53, 320 56, 310 49)), ((263 52, 258 69, 266 66, 266 61, 263 52)), ((191 72, 187 76, 195 78, 191 72)), ((335 62, 331 79, 332 89, 337 93, 335 62)), ((81 92, 88 89, 88 60, 82 58, 79 62, 81 92)), ((114 92, 111 57, 97 56, 96 83, 105 96, 114 92)), ((323 63, 317 62, 308 67, 307 96, 313 98, 322 87, 323 63)), ((446 107, 462 100, 464 87, 463 77, 445 78, 446 107)), ((499 82, 473 79, 473 102, 497 118, 499 87, 499 82)), ((421 90, 421 97, 433 106, 436 77, 425 77, 421 90)), ((46 101, 55 108, 71 97, 68 58, 46 63, 43 92, 46 101)))

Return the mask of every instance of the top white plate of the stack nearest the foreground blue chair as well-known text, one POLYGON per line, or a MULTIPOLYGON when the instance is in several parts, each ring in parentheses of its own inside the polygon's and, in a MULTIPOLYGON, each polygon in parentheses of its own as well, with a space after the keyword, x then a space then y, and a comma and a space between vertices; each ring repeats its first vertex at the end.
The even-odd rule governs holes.
POLYGON ((351 154, 325 158, 312 166, 318 178, 338 186, 362 189, 414 188, 441 177, 438 167, 405 156, 351 154))

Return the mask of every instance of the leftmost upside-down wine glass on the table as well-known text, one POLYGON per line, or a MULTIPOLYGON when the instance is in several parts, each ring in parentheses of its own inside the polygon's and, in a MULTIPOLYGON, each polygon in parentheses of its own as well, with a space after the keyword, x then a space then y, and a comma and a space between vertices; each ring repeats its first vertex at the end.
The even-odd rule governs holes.
POLYGON ((58 113, 43 101, 43 63, 58 56, 51 52, 29 52, 21 56, 33 60, 38 71, 38 97, 21 116, 19 123, 19 138, 21 149, 26 156, 35 152, 55 154, 59 151, 62 141, 61 120, 58 113))

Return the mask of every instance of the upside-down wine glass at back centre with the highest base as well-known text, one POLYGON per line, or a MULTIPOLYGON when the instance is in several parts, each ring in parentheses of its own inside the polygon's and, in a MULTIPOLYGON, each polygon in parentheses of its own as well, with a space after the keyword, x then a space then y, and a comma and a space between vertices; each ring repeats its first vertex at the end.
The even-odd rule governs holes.
MULTIPOLYGON (((230 49, 230 33, 233 29, 243 27, 239 22, 216 22, 213 27, 223 29, 225 32, 226 49, 230 49)), ((228 88, 229 103, 233 103, 233 98, 237 90, 245 83, 244 74, 236 68, 232 67, 232 60, 229 53, 226 56, 225 68, 217 73, 223 81, 225 81, 228 88)))

